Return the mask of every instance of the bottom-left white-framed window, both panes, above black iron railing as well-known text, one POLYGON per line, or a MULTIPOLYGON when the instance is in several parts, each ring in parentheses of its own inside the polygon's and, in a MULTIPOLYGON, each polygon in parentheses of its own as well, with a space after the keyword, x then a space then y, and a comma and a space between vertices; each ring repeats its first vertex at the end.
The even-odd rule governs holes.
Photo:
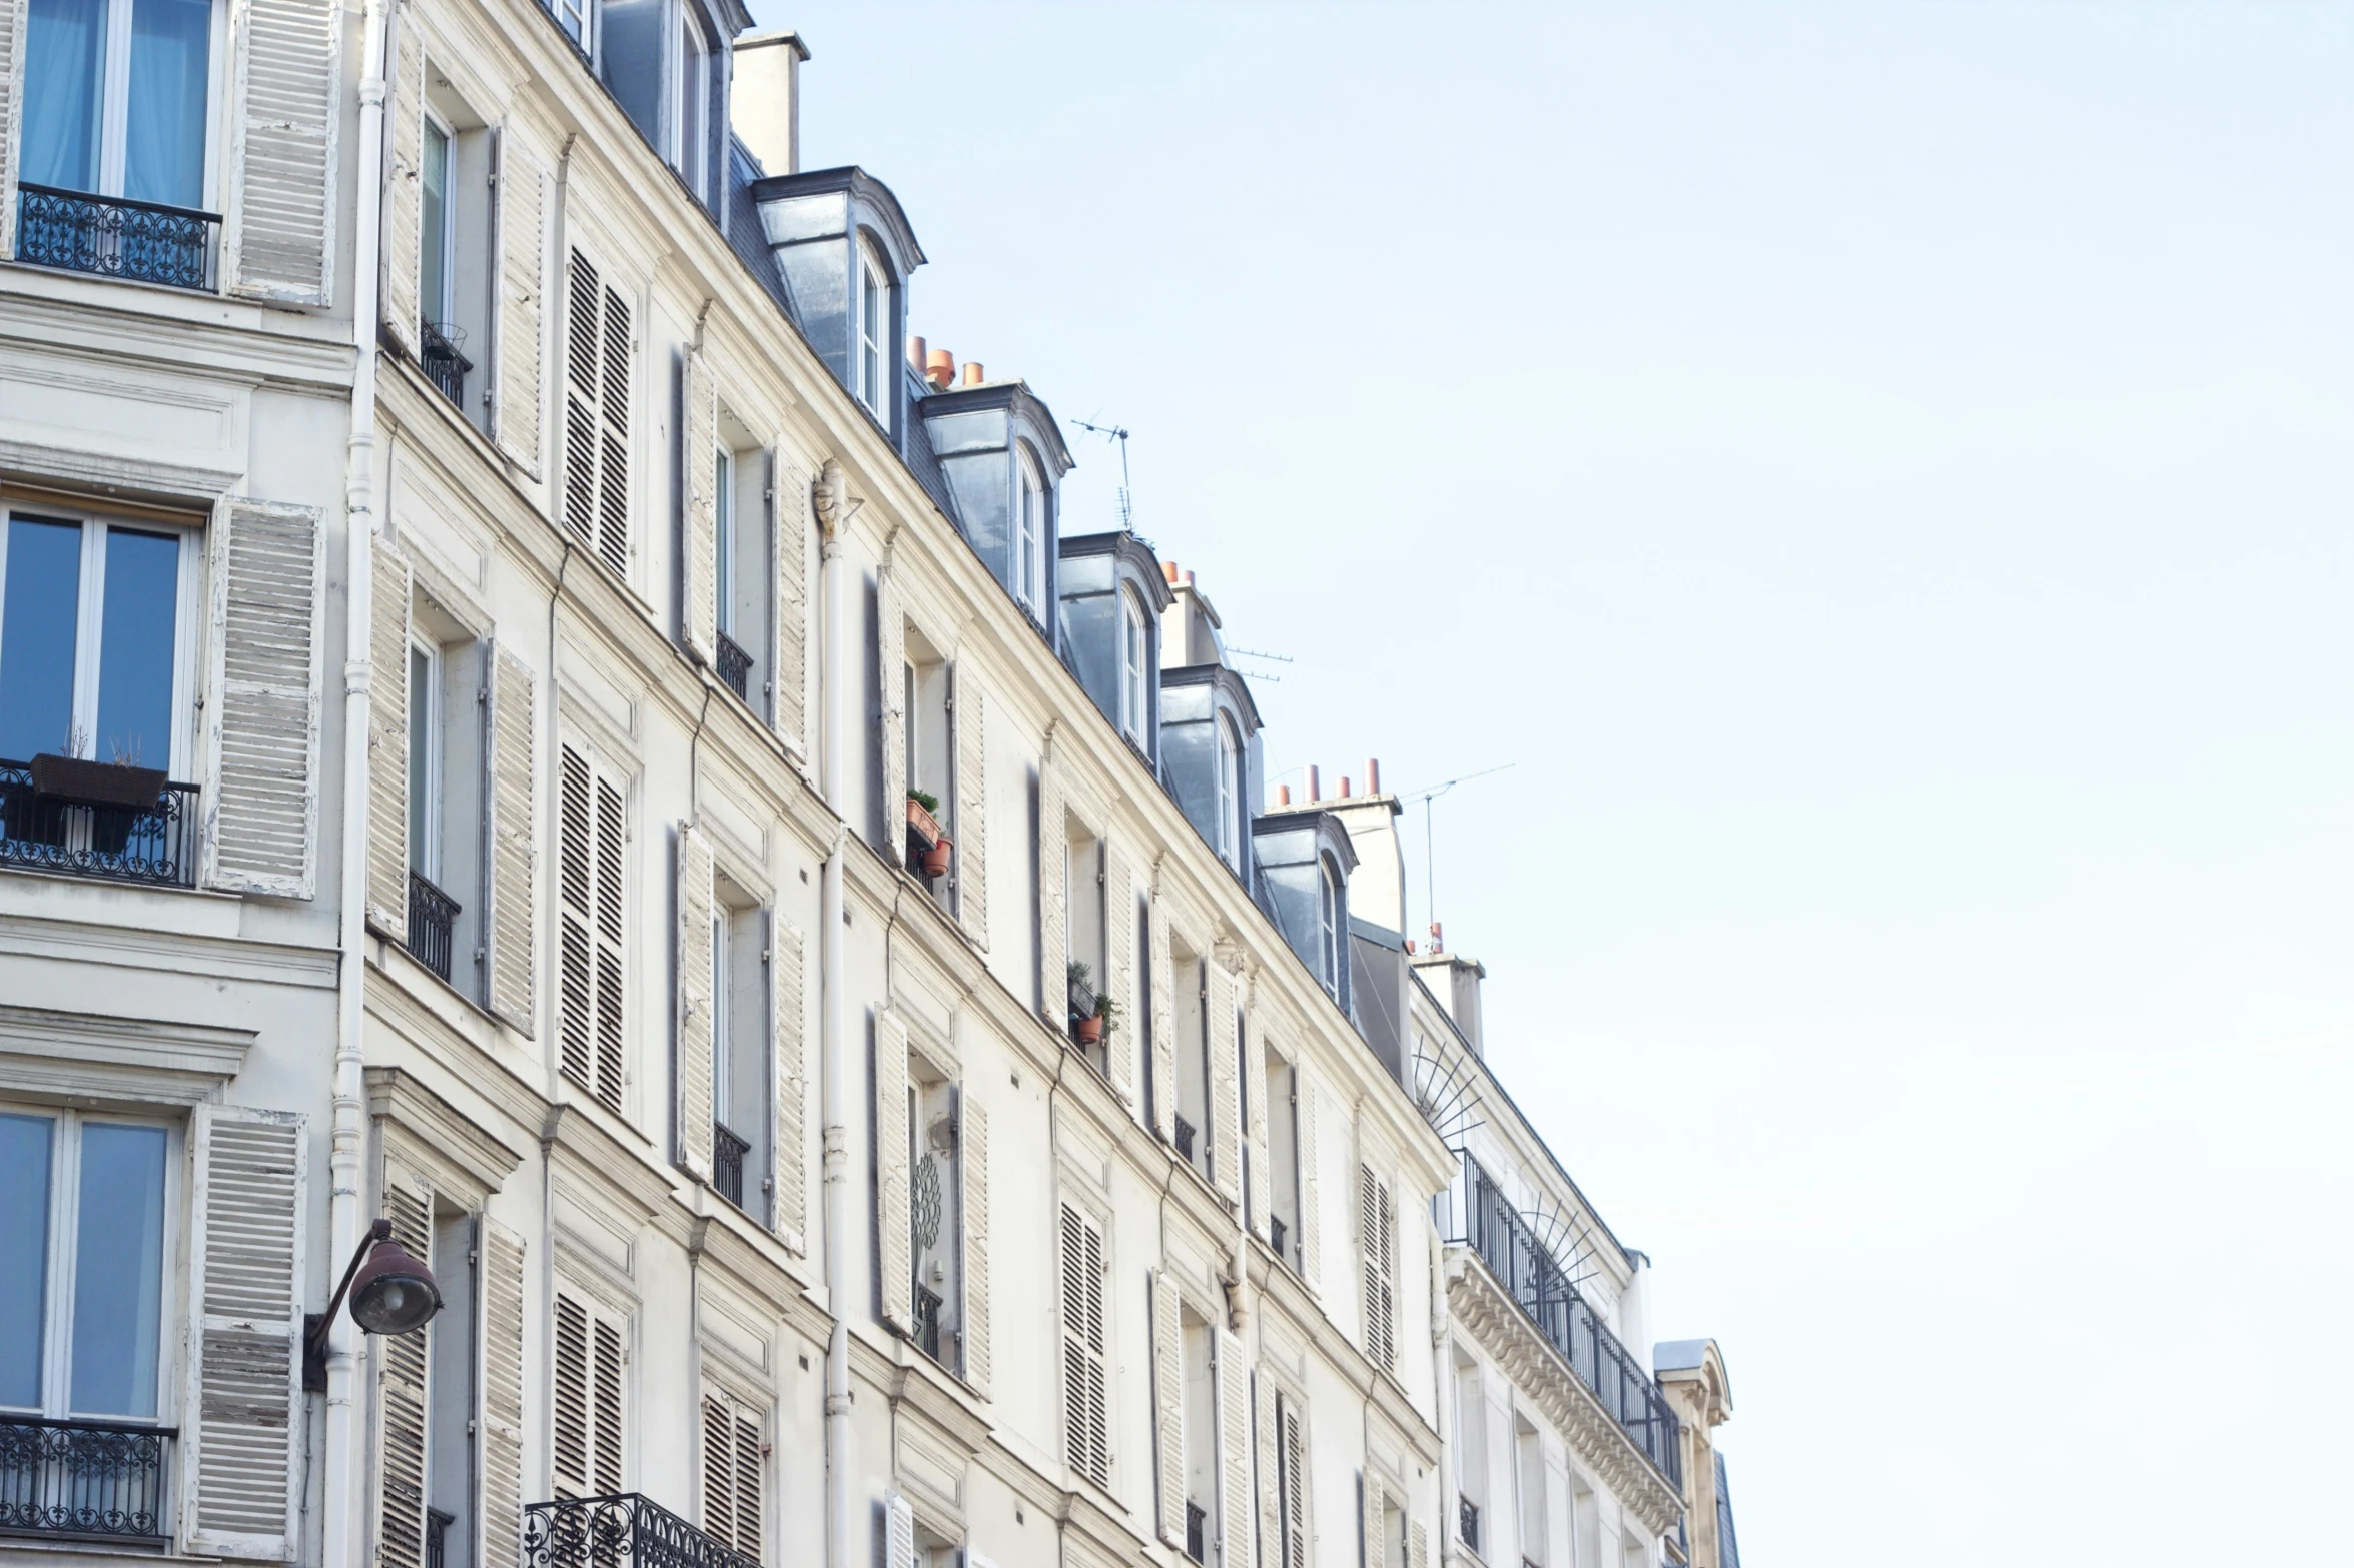
POLYGON ((174 1133, 0 1110, 0 1408, 155 1420, 174 1133))

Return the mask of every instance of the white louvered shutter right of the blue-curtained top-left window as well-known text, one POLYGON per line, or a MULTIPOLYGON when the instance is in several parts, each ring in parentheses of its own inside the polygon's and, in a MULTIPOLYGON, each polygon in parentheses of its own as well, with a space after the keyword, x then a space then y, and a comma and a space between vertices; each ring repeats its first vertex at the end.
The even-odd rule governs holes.
POLYGON ((221 275, 240 299, 334 294, 344 7, 245 0, 231 12, 238 129, 228 139, 221 275))

